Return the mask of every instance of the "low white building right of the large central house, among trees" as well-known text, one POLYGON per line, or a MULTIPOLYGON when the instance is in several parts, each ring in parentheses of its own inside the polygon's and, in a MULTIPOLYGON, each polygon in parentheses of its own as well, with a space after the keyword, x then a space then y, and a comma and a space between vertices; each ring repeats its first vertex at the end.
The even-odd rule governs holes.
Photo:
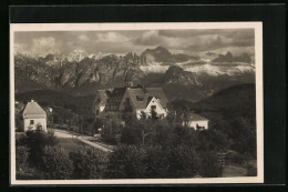
POLYGON ((207 130, 208 122, 206 118, 203 118, 196 113, 185 113, 182 115, 182 125, 193 128, 194 130, 207 130))

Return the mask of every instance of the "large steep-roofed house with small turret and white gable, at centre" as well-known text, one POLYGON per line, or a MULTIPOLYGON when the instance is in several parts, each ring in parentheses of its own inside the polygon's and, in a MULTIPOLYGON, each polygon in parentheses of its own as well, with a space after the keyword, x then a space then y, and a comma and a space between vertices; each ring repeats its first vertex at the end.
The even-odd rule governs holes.
POLYGON ((133 87, 132 80, 126 75, 124 88, 97 90, 94 101, 95 118, 113 115, 122 119, 124 112, 131 112, 137 119, 143 115, 151 117, 152 111, 158 118, 167 115, 167 99, 162 88, 133 87))

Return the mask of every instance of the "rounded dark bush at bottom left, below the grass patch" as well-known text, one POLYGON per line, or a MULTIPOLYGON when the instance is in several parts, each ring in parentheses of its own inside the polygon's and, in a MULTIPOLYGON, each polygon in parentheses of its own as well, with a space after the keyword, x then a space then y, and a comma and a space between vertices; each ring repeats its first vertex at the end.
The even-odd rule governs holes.
POLYGON ((59 146, 45 146, 41 161, 41 170, 44 179, 65 180, 73 172, 73 162, 69 154, 59 146))

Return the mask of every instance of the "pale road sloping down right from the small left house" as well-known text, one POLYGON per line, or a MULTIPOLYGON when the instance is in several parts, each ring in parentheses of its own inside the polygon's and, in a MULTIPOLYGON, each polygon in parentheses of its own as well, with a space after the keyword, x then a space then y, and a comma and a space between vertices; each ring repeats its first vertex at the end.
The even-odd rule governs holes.
POLYGON ((68 132, 68 131, 63 131, 63 130, 58 130, 58 129, 52 129, 54 131, 55 137, 58 138, 73 138, 73 139, 78 139, 79 141, 86 143, 93 148, 96 148, 101 151, 104 152, 112 152, 113 150, 111 149, 111 146, 105 145, 103 143, 97 143, 97 142, 91 142, 90 140, 93 139, 93 137, 86 137, 86 135, 81 135, 81 137, 76 137, 73 135, 72 133, 68 132))

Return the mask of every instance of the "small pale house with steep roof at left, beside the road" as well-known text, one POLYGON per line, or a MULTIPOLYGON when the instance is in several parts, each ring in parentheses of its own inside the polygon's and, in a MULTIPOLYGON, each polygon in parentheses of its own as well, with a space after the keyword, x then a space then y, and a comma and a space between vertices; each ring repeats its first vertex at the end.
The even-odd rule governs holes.
POLYGON ((37 129, 47 132, 47 113, 34 100, 28 102, 24 108, 23 125, 24 132, 37 129))

